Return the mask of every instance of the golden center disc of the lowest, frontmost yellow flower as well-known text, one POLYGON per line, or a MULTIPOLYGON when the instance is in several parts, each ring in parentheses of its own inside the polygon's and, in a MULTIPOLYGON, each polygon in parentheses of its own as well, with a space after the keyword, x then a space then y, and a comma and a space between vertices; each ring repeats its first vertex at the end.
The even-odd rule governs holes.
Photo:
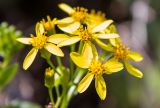
POLYGON ((91 63, 89 71, 91 71, 94 75, 102 75, 104 67, 100 61, 95 60, 91 63))

